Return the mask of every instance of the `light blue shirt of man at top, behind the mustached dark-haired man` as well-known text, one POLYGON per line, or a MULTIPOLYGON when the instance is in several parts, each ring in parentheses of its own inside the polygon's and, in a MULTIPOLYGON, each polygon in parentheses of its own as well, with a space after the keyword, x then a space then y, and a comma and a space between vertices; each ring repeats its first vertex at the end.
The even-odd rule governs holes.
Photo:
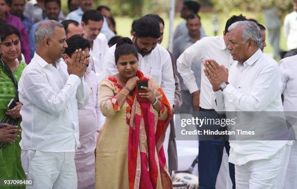
MULTIPOLYGON (((69 13, 66 17, 66 19, 72 19, 72 20, 76 20, 78 21, 79 23, 82 22, 82 15, 83 15, 83 12, 82 12, 82 9, 81 7, 79 7, 78 9, 72 11, 71 13, 69 13)), ((101 29, 101 33, 104 34, 107 38, 107 41, 109 41, 109 39, 111 39, 113 36, 115 36, 115 33, 113 31, 111 31, 108 27, 108 24, 107 24, 107 20, 105 17, 103 17, 103 26, 102 26, 102 29, 101 29)))

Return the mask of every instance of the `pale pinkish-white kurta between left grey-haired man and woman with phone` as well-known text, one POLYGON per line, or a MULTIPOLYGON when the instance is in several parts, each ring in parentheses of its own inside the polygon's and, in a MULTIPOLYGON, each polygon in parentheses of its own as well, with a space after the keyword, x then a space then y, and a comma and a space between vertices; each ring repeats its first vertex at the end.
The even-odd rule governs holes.
POLYGON ((95 189, 95 149, 100 127, 98 82, 90 67, 85 71, 84 79, 90 87, 90 96, 88 104, 78 110, 81 147, 75 152, 75 166, 78 189, 95 189))

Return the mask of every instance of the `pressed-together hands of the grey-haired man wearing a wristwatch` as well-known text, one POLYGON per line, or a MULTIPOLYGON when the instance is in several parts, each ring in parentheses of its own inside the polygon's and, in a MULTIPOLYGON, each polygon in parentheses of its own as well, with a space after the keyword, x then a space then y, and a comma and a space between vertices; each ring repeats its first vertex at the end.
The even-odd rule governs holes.
POLYGON ((215 60, 205 60, 203 63, 205 66, 204 73, 213 89, 219 89, 221 83, 228 82, 228 69, 223 65, 218 65, 215 60))

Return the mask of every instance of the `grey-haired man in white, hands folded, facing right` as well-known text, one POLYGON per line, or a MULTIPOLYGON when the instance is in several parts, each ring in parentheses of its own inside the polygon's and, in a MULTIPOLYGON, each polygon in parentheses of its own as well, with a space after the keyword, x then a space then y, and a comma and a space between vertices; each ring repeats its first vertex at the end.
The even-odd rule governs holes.
MULTIPOLYGON (((24 69, 18 84, 22 115, 22 166, 31 189, 77 188, 74 163, 80 147, 78 107, 89 98, 89 87, 82 77, 85 57, 63 61, 67 47, 62 24, 48 20, 35 31, 36 52, 24 69), (68 68, 67 68, 68 67, 68 68)), ((76 52, 77 53, 77 52, 76 52)))

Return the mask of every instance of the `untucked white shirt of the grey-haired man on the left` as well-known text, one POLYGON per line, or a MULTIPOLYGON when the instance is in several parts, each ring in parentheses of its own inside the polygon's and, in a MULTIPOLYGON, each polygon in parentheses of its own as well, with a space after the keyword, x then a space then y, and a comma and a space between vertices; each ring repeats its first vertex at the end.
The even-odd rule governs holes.
POLYGON ((22 150, 75 152, 80 147, 78 108, 88 103, 90 89, 76 75, 69 75, 60 59, 56 67, 37 53, 18 83, 23 104, 22 150))

